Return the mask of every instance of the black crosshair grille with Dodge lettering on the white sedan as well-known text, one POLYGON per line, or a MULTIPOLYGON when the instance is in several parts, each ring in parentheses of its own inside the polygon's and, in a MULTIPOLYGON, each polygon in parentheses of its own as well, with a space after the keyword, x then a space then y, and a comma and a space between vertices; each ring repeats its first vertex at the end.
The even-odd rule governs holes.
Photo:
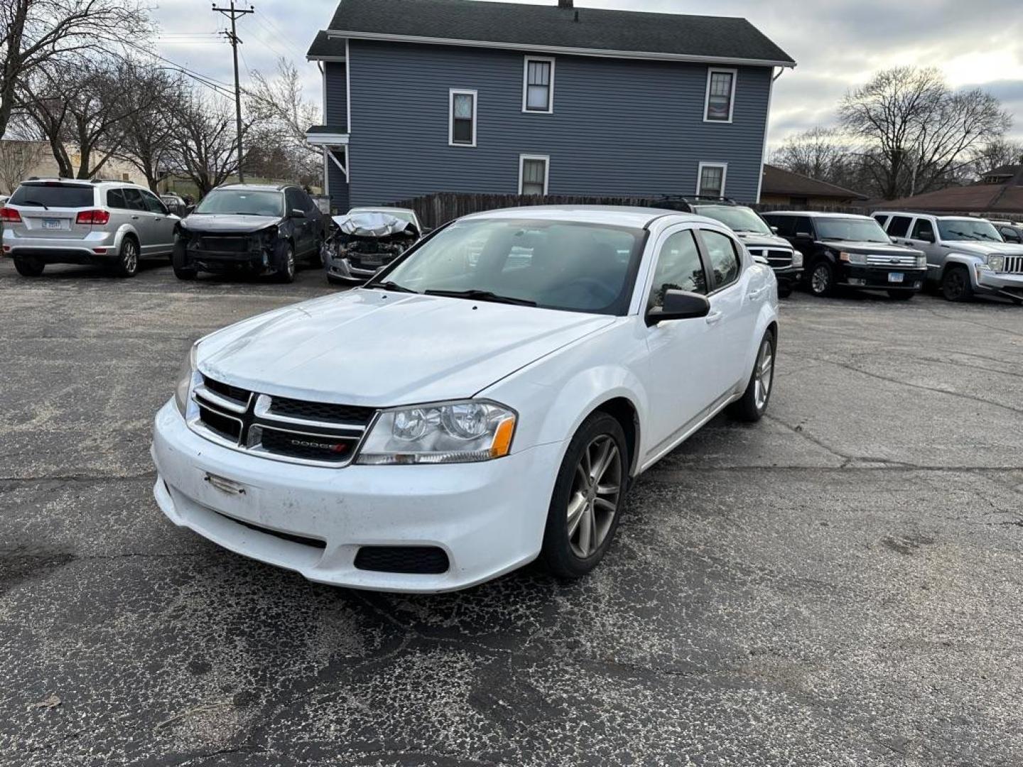
POLYGON ((192 399, 198 434, 235 450, 318 466, 351 462, 375 410, 354 405, 272 397, 207 375, 192 399))

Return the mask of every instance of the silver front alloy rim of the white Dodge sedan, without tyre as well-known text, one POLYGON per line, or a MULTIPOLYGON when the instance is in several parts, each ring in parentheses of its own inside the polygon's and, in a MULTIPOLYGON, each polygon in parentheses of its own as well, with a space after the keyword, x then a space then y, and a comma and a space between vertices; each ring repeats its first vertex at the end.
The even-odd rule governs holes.
POLYGON ((580 559, 592 556, 612 528, 622 493, 622 455, 610 435, 582 452, 566 509, 569 546, 580 559))

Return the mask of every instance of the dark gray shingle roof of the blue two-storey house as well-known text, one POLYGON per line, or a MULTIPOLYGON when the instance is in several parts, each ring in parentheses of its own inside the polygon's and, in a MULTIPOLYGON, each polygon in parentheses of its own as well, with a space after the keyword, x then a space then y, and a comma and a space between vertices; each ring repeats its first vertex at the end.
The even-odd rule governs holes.
MULTIPOLYGON (((470 40, 515 46, 626 51, 795 65, 745 18, 647 13, 474 0, 343 0, 331 31, 470 40), (576 19, 578 12, 578 19, 576 19)), ((320 32, 310 57, 343 56, 320 32)))

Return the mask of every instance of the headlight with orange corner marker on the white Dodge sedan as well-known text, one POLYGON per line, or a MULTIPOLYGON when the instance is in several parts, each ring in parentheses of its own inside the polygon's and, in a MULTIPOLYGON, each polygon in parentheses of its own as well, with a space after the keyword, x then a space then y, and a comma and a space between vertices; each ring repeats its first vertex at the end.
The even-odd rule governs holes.
POLYGON ((476 400, 386 410, 355 462, 472 463, 501 458, 511 448, 515 424, 515 411, 476 400))

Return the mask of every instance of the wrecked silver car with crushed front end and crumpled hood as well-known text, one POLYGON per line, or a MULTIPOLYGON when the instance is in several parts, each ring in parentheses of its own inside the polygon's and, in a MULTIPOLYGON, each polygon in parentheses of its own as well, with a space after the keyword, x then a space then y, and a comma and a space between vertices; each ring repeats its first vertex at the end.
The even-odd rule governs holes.
POLYGON ((336 216, 336 228, 321 251, 327 281, 364 282, 401 256, 419 239, 418 221, 412 216, 383 209, 336 216))

